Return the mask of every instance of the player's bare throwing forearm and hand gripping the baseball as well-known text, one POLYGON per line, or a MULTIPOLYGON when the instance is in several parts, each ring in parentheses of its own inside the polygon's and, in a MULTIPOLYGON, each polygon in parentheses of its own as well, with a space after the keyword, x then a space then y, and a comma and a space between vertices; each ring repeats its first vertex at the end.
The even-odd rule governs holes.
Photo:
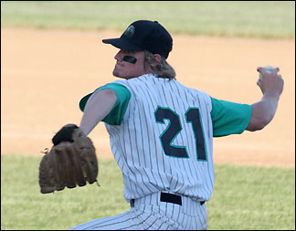
POLYGON ((264 68, 258 68, 262 75, 257 85, 263 93, 263 97, 252 106, 252 115, 248 123, 247 131, 259 131, 270 123, 278 108, 280 94, 284 81, 278 74, 280 68, 275 68, 271 73, 264 68))

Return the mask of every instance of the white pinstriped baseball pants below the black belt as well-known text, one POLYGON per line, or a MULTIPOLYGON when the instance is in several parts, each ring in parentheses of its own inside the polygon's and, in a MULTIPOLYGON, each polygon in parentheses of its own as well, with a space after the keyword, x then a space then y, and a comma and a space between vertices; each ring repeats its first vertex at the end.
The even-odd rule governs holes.
POLYGON ((182 196, 182 205, 160 201, 160 192, 136 199, 130 211, 99 218, 70 230, 203 230, 206 204, 182 196))

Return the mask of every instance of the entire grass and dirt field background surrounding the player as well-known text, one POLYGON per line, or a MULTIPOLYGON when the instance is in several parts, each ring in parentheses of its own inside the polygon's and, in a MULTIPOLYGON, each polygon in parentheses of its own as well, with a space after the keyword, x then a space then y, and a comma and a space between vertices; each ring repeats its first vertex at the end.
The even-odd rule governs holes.
POLYGON ((176 79, 218 100, 260 100, 256 69, 280 68, 273 121, 214 139, 208 229, 295 230, 294 1, 1 1, 1 229, 69 229, 129 209, 103 123, 89 135, 100 187, 45 196, 37 176, 54 134, 79 124, 79 100, 116 80, 118 49, 101 40, 139 19, 172 34, 176 79))

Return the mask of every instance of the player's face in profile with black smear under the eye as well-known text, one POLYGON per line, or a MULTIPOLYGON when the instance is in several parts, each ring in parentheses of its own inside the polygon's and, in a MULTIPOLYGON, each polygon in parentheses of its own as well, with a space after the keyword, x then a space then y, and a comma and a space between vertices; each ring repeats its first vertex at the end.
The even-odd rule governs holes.
POLYGON ((142 76, 146 74, 147 71, 144 69, 144 51, 124 51, 120 50, 116 56, 116 64, 113 69, 113 76, 122 79, 132 79, 135 77, 142 76), (132 63, 129 61, 124 61, 125 56, 136 58, 136 62, 132 63))

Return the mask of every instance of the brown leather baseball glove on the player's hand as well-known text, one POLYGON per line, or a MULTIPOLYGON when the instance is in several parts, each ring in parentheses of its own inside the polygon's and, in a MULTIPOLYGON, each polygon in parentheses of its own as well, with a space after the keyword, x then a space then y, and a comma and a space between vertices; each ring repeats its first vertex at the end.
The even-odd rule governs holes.
POLYGON ((97 182, 99 166, 95 148, 90 138, 74 126, 68 124, 58 131, 53 138, 55 145, 40 162, 39 185, 42 194, 97 182), (69 140, 71 142, 67 146, 58 145, 69 140))

